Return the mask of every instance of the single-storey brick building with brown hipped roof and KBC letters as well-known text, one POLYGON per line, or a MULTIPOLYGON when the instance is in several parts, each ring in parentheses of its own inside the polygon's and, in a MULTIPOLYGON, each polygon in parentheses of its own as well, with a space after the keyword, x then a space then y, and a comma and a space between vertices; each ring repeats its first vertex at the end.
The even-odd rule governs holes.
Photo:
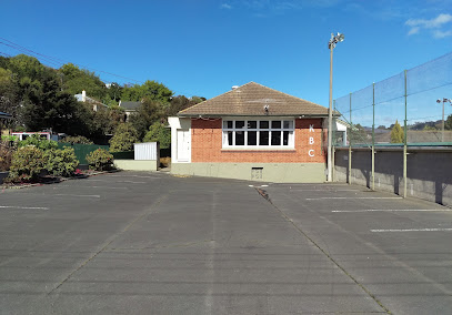
POLYGON ((171 172, 324 182, 327 122, 319 104, 254 82, 233 87, 169 118, 171 172))

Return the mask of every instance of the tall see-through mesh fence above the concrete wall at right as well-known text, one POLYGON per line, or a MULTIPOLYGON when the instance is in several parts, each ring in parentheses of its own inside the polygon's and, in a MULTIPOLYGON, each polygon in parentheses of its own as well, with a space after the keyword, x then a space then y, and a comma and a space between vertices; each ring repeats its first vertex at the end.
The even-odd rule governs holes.
POLYGON ((335 146, 452 145, 452 53, 334 101, 335 146))

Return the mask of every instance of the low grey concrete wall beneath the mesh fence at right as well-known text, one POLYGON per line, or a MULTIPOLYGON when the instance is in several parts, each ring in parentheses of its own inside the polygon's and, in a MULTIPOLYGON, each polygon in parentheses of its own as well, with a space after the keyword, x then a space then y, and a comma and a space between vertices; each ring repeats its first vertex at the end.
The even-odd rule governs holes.
MULTIPOLYGON (((452 205, 452 150, 410 149, 406 156, 406 196, 452 205)), ((349 150, 335 151, 334 180, 372 186, 371 150, 353 149, 349 179, 349 150)), ((375 153, 375 190, 403 195, 403 150, 375 153)))

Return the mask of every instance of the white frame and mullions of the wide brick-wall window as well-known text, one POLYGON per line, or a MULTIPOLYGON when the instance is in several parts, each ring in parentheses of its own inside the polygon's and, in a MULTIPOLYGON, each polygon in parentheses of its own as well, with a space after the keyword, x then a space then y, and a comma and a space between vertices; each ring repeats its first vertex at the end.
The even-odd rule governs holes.
POLYGON ((223 118, 221 122, 222 129, 222 149, 245 149, 245 150, 293 150, 295 148, 295 120, 293 118, 223 118), (225 122, 232 121, 232 128, 225 128, 225 122), (237 121, 243 121, 244 128, 238 129, 235 126, 237 121), (248 122, 255 121, 257 129, 248 129, 248 122), (260 122, 268 121, 269 128, 262 129, 260 128, 260 122), (271 128, 272 121, 280 121, 281 128, 271 128), (291 123, 291 128, 284 129, 284 121, 289 121, 291 123), (235 133, 237 132, 244 132, 244 144, 243 145, 235 145, 235 133), (248 132, 249 131, 257 131, 257 145, 248 145, 248 132), (269 132, 269 145, 259 145, 260 142, 260 132, 268 131, 269 132), (288 145, 283 145, 283 131, 289 131, 289 141, 288 145), (229 144, 228 141, 228 133, 232 132, 232 145, 229 144), (272 145, 271 144, 271 135, 272 132, 280 132, 281 133, 281 144, 280 145, 272 145))

